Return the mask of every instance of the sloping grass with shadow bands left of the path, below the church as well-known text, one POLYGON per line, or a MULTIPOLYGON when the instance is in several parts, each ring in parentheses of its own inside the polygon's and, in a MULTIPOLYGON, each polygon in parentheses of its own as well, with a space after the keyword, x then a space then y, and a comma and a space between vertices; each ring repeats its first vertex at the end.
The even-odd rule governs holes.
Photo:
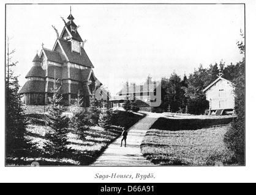
MULTIPOLYGON (((119 124, 119 120, 125 120, 126 127, 132 126, 144 115, 120 112, 115 116, 116 124, 119 124)), ((43 115, 30 115, 31 119, 28 126, 28 136, 37 146, 37 152, 34 152, 31 157, 23 158, 9 158, 7 159, 7 165, 31 165, 32 161, 39 162, 40 166, 48 165, 90 165, 107 146, 121 136, 122 130, 108 129, 105 130, 102 127, 92 126, 86 131, 85 139, 81 140, 78 135, 74 133, 73 129, 69 129, 69 147, 75 152, 67 154, 64 158, 49 158, 43 155, 43 146, 47 141, 45 140, 45 133, 50 130, 45 126, 45 120, 43 115)), ((114 124, 114 125, 116 125, 114 124)))

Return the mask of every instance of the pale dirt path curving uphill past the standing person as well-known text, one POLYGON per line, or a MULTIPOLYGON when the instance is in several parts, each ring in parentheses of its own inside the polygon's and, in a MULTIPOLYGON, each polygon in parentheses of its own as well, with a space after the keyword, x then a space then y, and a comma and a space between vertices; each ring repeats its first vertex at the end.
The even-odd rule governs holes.
POLYGON ((92 166, 145 166, 154 165, 143 157, 140 144, 146 132, 161 115, 147 113, 145 118, 130 127, 127 136, 127 145, 120 147, 122 138, 118 138, 108 146, 105 152, 92 164, 92 166))

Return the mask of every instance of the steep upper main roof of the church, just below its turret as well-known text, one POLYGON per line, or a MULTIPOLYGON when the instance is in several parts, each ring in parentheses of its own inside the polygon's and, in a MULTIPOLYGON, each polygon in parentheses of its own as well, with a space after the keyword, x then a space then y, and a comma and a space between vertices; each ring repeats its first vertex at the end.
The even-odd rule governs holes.
POLYGON ((61 44, 65 54, 67 55, 67 59, 69 60, 69 62, 94 68, 91 60, 85 52, 85 49, 81 48, 81 54, 78 52, 72 52, 70 41, 66 41, 61 38, 58 38, 58 41, 61 44))

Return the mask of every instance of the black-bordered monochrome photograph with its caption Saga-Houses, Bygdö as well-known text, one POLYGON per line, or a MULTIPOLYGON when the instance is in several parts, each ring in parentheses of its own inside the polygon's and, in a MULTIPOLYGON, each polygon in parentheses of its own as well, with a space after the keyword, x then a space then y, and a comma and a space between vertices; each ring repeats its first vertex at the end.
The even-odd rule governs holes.
POLYGON ((246 8, 5 4, 4 166, 245 167, 246 8))

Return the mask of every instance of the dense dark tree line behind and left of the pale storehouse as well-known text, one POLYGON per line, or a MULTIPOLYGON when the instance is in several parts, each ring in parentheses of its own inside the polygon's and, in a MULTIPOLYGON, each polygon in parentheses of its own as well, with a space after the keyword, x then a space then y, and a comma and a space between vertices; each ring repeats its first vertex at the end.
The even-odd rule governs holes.
POLYGON ((235 82, 240 73, 240 63, 225 66, 225 63, 215 63, 203 68, 200 65, 194 69, 194 73, 183 77, 171 73, 170 77, 161 79, 161 101, 162 104, 154 108, 155 112, 188 112, 193 115, 206 114, 209 108, 209 102, 206 101, 203 89, 216 80, 217 74, 221 71, 224 79, 235 82))

